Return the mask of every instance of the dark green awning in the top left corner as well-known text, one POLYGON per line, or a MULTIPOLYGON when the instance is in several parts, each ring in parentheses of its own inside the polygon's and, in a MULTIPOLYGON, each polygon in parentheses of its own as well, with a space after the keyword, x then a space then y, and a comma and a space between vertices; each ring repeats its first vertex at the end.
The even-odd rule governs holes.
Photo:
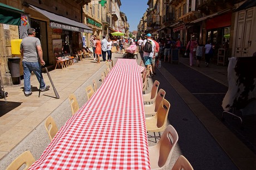
POLYGON ((0 23, 20 26, 21 14, 23 13, 21 9, 0 3, 0 23))

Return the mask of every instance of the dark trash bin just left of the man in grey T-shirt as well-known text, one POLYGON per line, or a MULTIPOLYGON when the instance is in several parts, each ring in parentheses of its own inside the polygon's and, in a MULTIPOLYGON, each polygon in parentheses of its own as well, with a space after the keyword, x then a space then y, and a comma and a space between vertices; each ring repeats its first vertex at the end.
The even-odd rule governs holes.
POLYGON ((21 79, 20 79, 21 74, 19 73, 20 62, 21 62, 20 57, 8 58, 9 71, 11 72, 12 78, 14 78, 12 79, 13 84, 20 84, 21 82, 21 79))

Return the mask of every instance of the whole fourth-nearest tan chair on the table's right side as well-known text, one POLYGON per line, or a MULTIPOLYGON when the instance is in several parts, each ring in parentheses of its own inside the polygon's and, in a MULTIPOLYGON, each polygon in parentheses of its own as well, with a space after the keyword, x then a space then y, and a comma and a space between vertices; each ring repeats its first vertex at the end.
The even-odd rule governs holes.
POLYGON ((157 112, 158 107, 160 106, 161 102, 165 97, 165 91, 160 89, 156 95, 156 99, 152 104, 144 105, 144 111, 146 115, 155 115, 157 112))

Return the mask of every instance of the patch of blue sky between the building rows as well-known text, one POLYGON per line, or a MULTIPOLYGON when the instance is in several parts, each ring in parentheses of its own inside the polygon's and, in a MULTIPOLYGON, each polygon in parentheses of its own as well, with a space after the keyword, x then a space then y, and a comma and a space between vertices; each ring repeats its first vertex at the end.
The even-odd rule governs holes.
POLYGON ((124 12, 130 25, 130 32, 137 31, 140 18, 146 12, 148 0, 122 0, 120 11, 124 12))

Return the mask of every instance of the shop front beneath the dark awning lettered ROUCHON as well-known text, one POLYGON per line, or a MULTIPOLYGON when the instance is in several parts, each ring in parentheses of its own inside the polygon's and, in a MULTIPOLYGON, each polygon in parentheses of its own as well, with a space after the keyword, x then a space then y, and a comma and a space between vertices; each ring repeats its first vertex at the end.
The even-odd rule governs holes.
POLYGON ((92 33, 85 24, 58 16, 29 4, 31 27, 36 29, 40 38, 43 59, 48 65, 54 65, 55 57, 60 53, 71 56, 83 47, 83 33, 92 33))

